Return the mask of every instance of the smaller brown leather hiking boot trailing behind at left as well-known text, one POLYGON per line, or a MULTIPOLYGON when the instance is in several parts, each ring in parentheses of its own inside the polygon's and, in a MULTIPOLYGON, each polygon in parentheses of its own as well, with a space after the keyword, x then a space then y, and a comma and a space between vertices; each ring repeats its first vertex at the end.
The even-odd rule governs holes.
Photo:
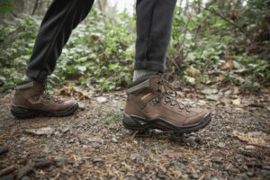
POLYGON ((24 81, 16 86, 12 114, 20 119, 33 118, 40 114, 45 116, 67 116, 78 109, 74 100, 62 101, 44 94, 46 84, 36 81, 24 81))

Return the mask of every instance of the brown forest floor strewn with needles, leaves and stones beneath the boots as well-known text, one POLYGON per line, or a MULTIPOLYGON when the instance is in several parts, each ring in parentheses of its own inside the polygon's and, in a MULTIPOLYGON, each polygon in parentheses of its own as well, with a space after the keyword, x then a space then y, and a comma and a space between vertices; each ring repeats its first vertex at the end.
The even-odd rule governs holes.
POLYGON ((85 96, 69 117, 31 120, 11 115, 12 97, 0 98, 1 180, 270 179, 267 92, 184 89, 182 101, 212 113, 204 130, 184 135, 124 129, 122 91, 85 96))

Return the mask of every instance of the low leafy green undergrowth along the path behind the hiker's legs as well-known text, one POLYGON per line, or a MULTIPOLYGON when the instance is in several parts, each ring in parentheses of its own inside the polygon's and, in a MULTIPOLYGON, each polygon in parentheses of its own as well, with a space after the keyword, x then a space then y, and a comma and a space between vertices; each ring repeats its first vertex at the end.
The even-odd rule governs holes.
MULTIPOLYGON (((40 17, 27 15, 0 24, 3 90, 14 88, 23 78, 39 24, 40 17)), ((70 80, 102 92, 128 85, 134 63, 135 34, 134 17, 119 14, 103 18, 94 11, 73 31, 49 83, 58 85, 70 80)), ((167 71, 184 79, 185 85, 238 85, 241 90, 253 92, 262 86, 269 87, 267 57, 248 53, 245 40, 245 35, 209 11, 190 16, 181 14, 178 8, 167 71)))

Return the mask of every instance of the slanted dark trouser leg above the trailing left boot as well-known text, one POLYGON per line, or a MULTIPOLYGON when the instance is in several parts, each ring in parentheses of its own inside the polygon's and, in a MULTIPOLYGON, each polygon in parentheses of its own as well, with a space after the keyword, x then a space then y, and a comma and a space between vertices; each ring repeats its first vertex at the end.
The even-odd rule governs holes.
POLYGON ((54 0, 37 36, 26 75, 39 82, 47 79, 63 47, 78 23, 85 19, 94 0, 54 0))

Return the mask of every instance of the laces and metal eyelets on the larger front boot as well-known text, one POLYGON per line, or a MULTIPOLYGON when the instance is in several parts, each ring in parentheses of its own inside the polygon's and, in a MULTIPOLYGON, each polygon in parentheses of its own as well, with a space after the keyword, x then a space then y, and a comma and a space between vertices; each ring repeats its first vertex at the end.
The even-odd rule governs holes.
POLYGON ((164 104, 170 103, 171 108, 173 108, 175 105, 178 106, 179 112, 185 110, 186 113, 191 112, 191 105, 190 104, 184 104, 177 101, 177 92, 175 90, 175 87, 171 85, 171 83, 174 81, 174 77, 171 75, 160 75, 160 78, 157 82, 160 86, 157 88, 157 97, 153 99, 153 103, 159 103, 164 99, 164 104))

